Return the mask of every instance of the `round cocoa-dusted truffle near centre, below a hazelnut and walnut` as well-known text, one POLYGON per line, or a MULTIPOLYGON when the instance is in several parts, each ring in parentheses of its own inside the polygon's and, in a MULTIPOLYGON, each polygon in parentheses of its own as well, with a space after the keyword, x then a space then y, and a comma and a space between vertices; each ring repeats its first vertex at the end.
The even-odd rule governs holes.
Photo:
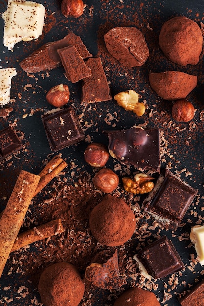
POLYGON ((107 246, 119 246, 133 235, 136 219, 125 201, 107 194, 92 210, 89 225, 98 242, 107 246))

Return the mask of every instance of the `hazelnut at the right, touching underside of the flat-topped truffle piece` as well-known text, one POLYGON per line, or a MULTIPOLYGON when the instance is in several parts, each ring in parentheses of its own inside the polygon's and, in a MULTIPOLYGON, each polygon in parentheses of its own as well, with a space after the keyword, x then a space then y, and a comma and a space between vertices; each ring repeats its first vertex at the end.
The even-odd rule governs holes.
POLYGON ((177 100, 172 106, 172 117, 178 122, 188 122, 194 117, 194 106, 186 99, 177 100))

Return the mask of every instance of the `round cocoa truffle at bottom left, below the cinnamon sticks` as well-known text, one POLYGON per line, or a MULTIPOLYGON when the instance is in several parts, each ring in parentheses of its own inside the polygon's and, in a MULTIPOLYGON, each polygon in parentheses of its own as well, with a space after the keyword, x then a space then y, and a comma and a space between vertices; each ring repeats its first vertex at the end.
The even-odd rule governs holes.
POLYGON ((74 265, 58 262, 45 268, 38 291, 45 306, 77 306, 83 298, 84 287, 74 265))

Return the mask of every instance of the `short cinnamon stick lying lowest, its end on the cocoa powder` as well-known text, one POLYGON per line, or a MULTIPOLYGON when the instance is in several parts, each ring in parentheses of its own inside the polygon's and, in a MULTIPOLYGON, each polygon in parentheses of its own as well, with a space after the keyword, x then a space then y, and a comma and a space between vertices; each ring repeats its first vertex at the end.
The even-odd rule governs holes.
POLYGON ((64 228, 61 222, 61 219, 56 219, 50 222, 47 222, 43 225, 39 225, 25 231, 17 236, 11 252, 17 251, 23 246, 29 245, 33 242, 60 234, 64 232, 64 228))

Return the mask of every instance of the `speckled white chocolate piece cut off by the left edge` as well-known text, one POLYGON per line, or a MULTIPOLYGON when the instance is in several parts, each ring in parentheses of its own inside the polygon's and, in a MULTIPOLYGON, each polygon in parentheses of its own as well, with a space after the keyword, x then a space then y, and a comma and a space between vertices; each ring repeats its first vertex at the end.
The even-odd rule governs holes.
POLYGON ((16 74, 15 68, 0 69, 0 105, 10 102, 11 79, 16 74))

